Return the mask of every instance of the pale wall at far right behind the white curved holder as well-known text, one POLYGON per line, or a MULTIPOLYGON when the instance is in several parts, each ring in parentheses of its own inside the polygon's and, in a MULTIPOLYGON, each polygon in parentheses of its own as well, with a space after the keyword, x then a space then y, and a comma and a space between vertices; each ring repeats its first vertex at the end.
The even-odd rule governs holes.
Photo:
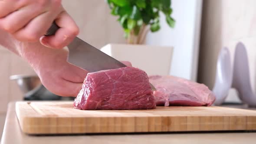
POLYGON ((247 47, 251 81, 256 90, 255 6, 256 0, 203 0, 199 82, 213 88, 218 52, 227 46, 233 62, 234 48, 241 41, 247 47))

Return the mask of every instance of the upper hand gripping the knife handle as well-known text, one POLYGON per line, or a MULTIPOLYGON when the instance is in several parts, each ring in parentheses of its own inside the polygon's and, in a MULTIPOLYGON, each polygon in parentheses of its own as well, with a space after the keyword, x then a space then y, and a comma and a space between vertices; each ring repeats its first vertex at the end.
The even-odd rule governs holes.
POLYGON ((67 46, 79 29, 63 9, 61 0, 0 0, 0 29, 21 42, 40 42, 51 48, 67 46), (53 23, 54 36, 44 36, 53 23))

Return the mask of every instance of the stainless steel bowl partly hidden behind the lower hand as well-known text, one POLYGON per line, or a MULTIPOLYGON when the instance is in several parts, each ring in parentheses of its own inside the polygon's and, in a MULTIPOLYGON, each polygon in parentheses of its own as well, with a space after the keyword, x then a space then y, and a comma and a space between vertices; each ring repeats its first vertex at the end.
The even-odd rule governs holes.
POLYGON ((24 94, 42 85, 37 75, 11 75, 10 80, 16 80, 24 94))

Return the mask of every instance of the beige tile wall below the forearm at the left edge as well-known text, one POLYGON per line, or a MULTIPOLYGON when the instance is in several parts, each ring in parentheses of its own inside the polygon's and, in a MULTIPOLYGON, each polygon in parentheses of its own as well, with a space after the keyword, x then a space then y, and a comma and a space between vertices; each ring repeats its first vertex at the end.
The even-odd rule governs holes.
POLYGON ((30 65, 0 46, 0 113, 5 113, 9 101, 22 100, 22 93, 15 81, 10 81, 10 75, 35 74, 30 65))

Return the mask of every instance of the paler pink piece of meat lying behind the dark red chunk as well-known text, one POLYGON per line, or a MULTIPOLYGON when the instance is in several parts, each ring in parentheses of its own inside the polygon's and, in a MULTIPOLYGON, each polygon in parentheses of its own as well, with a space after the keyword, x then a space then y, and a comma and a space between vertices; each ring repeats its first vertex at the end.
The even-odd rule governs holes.
POLYGON ((215 101, 213 92, 197 82, 170 75, 152 75, 149 81, 157 89, 154 91, 157 106, 210 106, 215 101))

